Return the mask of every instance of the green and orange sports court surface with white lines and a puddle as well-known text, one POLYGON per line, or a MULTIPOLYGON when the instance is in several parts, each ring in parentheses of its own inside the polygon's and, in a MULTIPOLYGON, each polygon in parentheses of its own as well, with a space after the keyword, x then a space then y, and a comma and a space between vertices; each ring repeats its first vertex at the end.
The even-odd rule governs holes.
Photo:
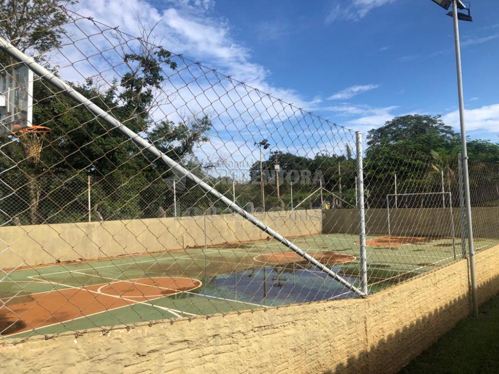
MULTIPOLYGON (((376 237, 367 239, 369 243, 376 237)), ((332 252, 355 256, 351 262, 328 266, 350 283, 359 285, 357 235, 321 234, 292 241, 311 255, 332 252)), ((477 240, 477 247, 492 244, 495 243, 477 240)), ((455 246, 460 258, 460 242, 455 246)), ((276 265, 255 260, 262 254, 283 252, 289 249, 274 240, 264 240, 9 271, 0 281, 0 299, 4 303, 0 312, 1 336, 18 340, 34 334, 50 336, 356 297, 312 265, 295 262, 276 265), (171 283, 185 278, 197 283, 189 289, 173 292, 167 286, 145 284, 147 279, 171 283), (115 285, 119 285, 120 290, 115 285), (111 291, 103 292, 103 288, 111 291), (168 292, 162 291, 159 295, 159 291, 149 292, 149 296, 132 292, 150 289, 168 292), (43 314, 47 316, 40 317, 43 314)), ((370 292, 454 259, 449 238, 426 238, 397 246, 368 245, 370 292)))

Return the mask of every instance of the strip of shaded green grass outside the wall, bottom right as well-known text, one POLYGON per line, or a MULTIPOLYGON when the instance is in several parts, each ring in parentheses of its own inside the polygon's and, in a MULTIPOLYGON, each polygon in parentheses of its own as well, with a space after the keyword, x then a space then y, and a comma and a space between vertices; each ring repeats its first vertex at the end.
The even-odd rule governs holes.
POLYGON ((399 372, 409 373, 499 373, 499 295, 399 372))

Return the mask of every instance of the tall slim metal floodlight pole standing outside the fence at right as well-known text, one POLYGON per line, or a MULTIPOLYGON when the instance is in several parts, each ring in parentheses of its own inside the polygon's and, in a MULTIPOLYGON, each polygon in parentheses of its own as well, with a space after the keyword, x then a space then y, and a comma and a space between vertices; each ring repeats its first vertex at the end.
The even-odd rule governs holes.
POLYGON ((456 70, 458 76, 459 119, 461 123, 461 153, 463 156, 463 182, 465 189, 468 247, 470 251, 470 278, 471 278, 471 291, 473 297, 473 315, 475 317, 478 317, 477 278, 475 274, 475 248, 473 245, 473 226, 472 226, 471 200, 470 200, 470 177, 468 174, 468 150, 466 147, 465 106, 464 106, 464 95, 463 95, 463 75, 461 69, 461 46, 459 43, 458 4, 456 0, 453 1, 452 9, 453 9, 453 19, 454 19, 454 43, 456 45, 456 70))

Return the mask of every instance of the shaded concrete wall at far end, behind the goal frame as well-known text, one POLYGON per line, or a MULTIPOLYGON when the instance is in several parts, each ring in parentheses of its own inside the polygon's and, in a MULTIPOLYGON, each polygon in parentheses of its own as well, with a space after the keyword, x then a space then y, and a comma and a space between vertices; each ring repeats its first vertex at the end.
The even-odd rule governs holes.
MULTIPOLYGON (((453 209, 456 236, 461 235, 459 209, 453 209)), ((390 209, 392 235, 450 236, 450 209, 413 208, 390 209)), ((499 238, 499 207, 472 208, 475 237, 499 238)), ((324 211, 324 233, 358 233, 356 209, 324 211)), ((366 209, 366 231, 371 235, 388 234, 386 209, 366 209)))

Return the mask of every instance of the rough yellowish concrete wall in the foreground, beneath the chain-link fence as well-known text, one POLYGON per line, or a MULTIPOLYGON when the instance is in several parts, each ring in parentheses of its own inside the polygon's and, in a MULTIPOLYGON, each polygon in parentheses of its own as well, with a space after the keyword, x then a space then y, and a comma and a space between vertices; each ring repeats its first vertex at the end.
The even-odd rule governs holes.
MULTIPOLYGON (((476 256, 480 302, 499 246, 476 256)), ((396 373, 470 313, 461 260, 369 296, 0 347, 2 373, 396 373)))

